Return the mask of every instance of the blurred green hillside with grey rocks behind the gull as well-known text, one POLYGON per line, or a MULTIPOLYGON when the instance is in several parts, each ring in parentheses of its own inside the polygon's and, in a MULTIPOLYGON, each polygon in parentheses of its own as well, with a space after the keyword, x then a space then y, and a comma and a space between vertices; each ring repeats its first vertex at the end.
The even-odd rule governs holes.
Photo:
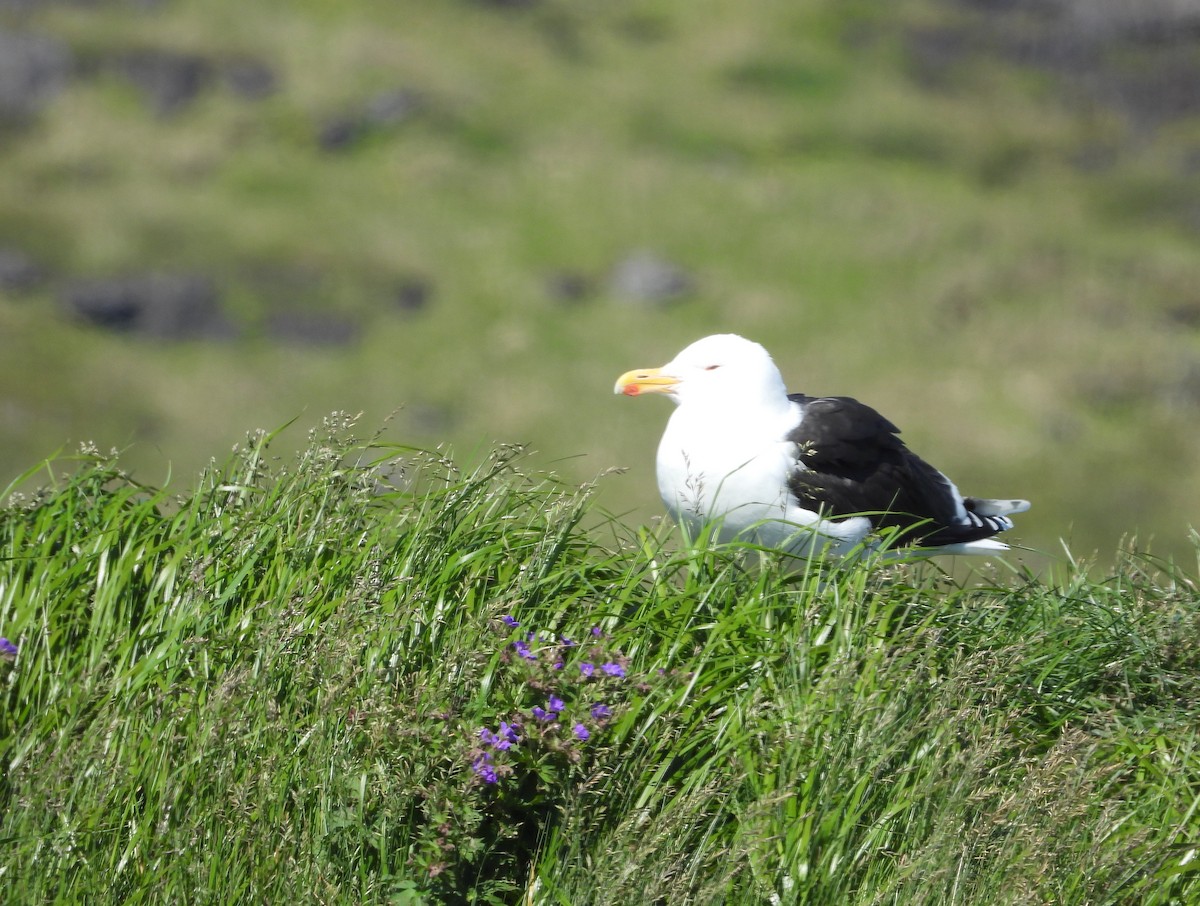
POLYGON ((334 409, 660 512, 764 343, 1012 533, 1194 563, 1200 0, 0 0, 0 487, 334 409))

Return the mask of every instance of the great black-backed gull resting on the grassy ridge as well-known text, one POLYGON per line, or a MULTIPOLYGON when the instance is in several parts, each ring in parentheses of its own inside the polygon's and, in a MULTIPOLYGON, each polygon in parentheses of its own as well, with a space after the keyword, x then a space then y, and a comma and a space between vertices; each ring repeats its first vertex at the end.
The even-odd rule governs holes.
POLYGON ((992 535, 1028 500, 964 497, 896 437, 899 428, 846 396, 788 394, 770 355, 733 334, 698 340, 661 368, 617 379, 626 396, 676 403, 659 443, 659 493, 690 529, 715 522, 734 538, 798 557, 911 546, 996 553, 992 535))

